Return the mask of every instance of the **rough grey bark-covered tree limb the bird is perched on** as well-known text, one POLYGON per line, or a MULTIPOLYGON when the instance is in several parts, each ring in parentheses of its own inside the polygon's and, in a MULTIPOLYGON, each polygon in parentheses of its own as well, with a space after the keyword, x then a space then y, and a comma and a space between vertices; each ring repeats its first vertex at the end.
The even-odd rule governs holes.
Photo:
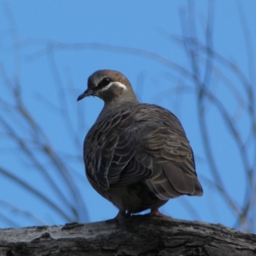
POLYGON ((256 255, 256 235, 223 225, 132 216, 96 223, 0 230, 2 256, 256 255))

